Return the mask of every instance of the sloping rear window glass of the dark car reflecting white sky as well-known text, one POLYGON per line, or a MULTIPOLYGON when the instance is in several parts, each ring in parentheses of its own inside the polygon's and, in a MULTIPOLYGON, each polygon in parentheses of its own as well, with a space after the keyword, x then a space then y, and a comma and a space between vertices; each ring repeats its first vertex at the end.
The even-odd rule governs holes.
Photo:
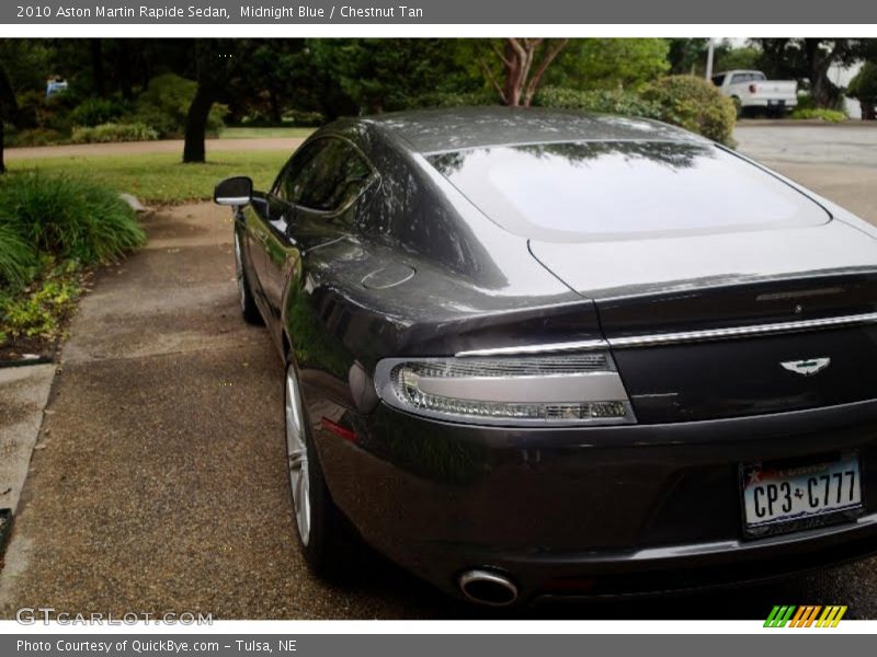
POLYGON ((428 160, 493 221, 528 238, 721 232, 830 219, 790 185, 710 143, 503 146, 428 160))

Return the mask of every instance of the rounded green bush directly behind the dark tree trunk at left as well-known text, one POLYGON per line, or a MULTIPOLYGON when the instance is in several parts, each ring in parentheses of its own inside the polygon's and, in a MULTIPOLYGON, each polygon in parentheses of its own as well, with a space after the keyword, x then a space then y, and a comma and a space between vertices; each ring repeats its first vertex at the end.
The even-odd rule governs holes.
MULTIPOLYGON (((146 124, 162 138, 180 137, 185 134, 185 117, 196 90, 196 82, 173 73, 152 78, 126 122, 146 124)), ((214 103, 207 117, 207 131, 218 132, 226 114, 226 105, 214 103)))

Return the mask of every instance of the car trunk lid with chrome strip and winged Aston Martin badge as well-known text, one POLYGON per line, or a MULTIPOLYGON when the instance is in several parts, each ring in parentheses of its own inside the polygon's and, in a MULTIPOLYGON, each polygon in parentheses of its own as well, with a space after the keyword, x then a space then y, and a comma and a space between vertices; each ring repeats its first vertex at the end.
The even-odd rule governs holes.
POLYGON ((594 300, 640 423, 877 397, 877 245, 850 224, 531 242, 594 300))

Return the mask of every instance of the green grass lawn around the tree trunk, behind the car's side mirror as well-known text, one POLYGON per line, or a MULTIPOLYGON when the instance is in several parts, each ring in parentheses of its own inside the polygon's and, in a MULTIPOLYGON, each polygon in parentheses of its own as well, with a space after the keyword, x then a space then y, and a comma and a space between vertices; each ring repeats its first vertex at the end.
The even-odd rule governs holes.
POLYGON ((210 199, 214 185, 229 175, 249 175, 257 189, 266 189, 288 157, 286 151, 219 152, 205 164, 182 164, 179 153, 148 153, 13 160, 8 169, 83 176, 159 205, 210 199))

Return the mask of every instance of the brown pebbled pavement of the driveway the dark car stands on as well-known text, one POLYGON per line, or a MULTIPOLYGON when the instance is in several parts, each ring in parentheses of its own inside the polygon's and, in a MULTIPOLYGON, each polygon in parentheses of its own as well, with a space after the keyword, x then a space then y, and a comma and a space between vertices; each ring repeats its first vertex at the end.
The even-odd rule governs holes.
MULTIPOLYGON (((877 221, 867 183, 877 170, 784 166, 835 200, 870 207, 877 221)), ((286 487, 283 371, 263 330, 240 319, 228 212, 180 207, 145 224, 149 245, 98 277, 71 326, 0 576, 0 616, 38 606, 231 619, 496 615, 376 556, 349 587, 308 573, 286 487)), ((516 615, 759 619, 776 603, 840 603, 848 618, 877 619, 876 589, 870 560, 771 586, 516 615)))

